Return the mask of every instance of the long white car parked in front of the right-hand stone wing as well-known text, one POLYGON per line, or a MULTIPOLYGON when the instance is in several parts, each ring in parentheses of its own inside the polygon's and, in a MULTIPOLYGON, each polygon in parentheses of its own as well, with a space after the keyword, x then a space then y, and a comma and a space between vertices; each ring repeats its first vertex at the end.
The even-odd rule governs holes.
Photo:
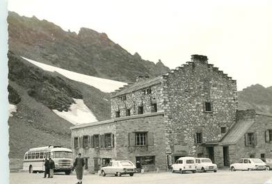
POLYGON ((230 165, 232 172, 236 170, 265 170, 266 163, 259 158, 241 158, 238 163, 230 165))

